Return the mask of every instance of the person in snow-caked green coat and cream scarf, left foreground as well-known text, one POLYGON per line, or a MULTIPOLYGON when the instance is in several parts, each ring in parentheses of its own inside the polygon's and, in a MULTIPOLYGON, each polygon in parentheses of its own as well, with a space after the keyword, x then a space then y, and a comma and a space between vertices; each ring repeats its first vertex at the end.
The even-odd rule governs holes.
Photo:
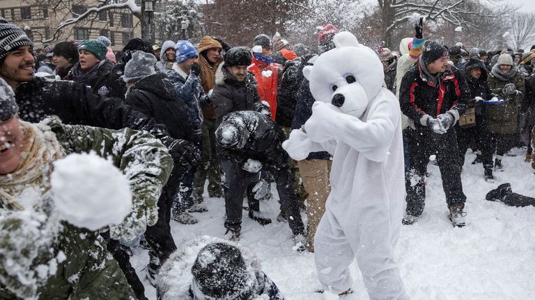
POLYGON ((110 157, 130 183, 132 210, 109 234, 131 240, 157 221, 169 152, 144 131, 68 126, 54 117, 30 124, 17 112, 0 79, 0 299, 134 299, 98 231, 54 218, 52 163, 68 153, 110 157), (27 223, 25 215, 39 217, 27 223))

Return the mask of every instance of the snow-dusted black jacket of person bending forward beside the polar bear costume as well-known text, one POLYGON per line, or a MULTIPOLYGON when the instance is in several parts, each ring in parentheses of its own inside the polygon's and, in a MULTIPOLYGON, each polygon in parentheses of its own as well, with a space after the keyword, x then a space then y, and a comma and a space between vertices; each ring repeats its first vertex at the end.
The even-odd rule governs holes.
POLYGON ((288 153, 281 146, 286 136, 267 115, 254 111, 229 113, 219 124, 217 140, 222 138, 219 135, 224 133, 227 126, 238 128, 240 142, 231 147, 223 147, 218 143, 220 159, 231 160, 237 165, 243 165, 249 158, 258 160, 263 165, 262 169, 271 174, 288 166, 288 153))

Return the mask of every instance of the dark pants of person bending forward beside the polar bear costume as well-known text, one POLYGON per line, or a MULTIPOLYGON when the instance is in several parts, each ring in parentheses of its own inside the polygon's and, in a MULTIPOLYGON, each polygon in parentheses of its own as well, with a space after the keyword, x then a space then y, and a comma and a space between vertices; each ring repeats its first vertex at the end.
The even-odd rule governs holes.
MULTIPOLYGON (((258 200, 254 199, 252 189, 258 183, 260 174, 249 173, 242 169, 241 165, 230 160, 220 160, 221 168, 225 174, 223 190, 225 192, 226 220, 225 228, 239 227, 242 224, 243 194, 247 192, 249 209, 259 210, 258 200)), ((277 183, 277 192, 282 206, 288 217, 288 225, 294 235, 304 233, 304 225, 301 219, 297 197, 293 192, 292 177, 289 167, 272 174, 277 183)))

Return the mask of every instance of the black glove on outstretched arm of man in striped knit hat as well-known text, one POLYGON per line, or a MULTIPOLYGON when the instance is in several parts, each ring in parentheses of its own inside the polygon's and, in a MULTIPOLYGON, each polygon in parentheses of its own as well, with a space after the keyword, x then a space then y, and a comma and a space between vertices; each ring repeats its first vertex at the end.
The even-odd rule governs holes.
POLYGON ((175 171, 184 174, 188 169, 199 165, 201 160, 201 149, 187 140, 176 140, 169 136, 162 139, 162 144, 169 149, 169 154, 173 157, 175 171))

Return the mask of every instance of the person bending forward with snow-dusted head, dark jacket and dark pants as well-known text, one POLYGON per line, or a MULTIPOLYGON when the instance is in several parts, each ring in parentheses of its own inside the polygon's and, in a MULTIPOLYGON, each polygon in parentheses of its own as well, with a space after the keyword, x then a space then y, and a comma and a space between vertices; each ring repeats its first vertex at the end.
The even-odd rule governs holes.
MULTIPOLYGON (((230 238, 240 238, 243 194, 247 192, 249 206, 258 206, 258 201, 251 200, 262 199, 270 192, 269 179, 272 178, 277 183, 297 250, 304 251, 307 247, 304 225, 293 192, 288 153, 281 147, 285 139, 281 128, 269 115, 238 111, 223 117, 215 135, 225 174, 225 228, 230 238)), ((254 217, 252 214, 258 210, 258 207, 249 207, 249 217, 254 217)))

